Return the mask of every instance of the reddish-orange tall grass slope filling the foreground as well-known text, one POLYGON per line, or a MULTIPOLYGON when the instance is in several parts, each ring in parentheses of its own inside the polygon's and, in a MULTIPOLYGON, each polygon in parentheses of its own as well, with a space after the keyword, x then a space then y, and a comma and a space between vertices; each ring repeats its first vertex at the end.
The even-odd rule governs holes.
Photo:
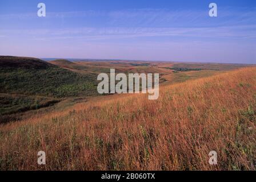
POLYGON ((256 68, 0 126, 2 170, 255 170, 256 68), (46 152, 46 165, 37 152, 46 152), (209 164, 217 151, 218 165, 209 164))

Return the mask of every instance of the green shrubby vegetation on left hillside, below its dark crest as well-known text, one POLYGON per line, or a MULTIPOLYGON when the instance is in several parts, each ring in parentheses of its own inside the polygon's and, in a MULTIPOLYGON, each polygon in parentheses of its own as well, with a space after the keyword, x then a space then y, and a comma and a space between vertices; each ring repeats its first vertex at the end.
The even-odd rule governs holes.
POLYGON ((2 69, 0 92, 48 97, 92 96, 97 93, 95 75, 79 75, 61 68, 2 69))

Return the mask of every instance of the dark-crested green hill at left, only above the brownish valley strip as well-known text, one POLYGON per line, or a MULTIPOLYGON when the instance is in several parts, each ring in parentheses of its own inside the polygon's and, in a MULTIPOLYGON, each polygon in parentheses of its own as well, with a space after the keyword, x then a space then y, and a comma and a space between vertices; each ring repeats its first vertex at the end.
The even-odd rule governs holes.
POLYGON ((97 94, 97 75, 79 74, 31 57, 0 56, 0 93, 93 96, 97 94))

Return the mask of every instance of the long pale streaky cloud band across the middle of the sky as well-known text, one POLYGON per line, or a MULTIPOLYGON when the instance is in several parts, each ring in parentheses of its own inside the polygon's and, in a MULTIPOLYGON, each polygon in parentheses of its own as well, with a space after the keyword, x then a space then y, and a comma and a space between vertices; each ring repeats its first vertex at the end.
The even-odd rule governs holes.
POLYGON ((213 39, 241 39, 254 38, 256 25, 251 26, 223 26, 223 27, 196 27, 196 28, 151 28, 151 27, 108 27, 108 28, 65 28, 65 29, 38 29, 38 30, 0 30, 1 35, 32 37, 36 39, 129 39, 143 37, 168 36, 173 38, 213 38, 213 39))

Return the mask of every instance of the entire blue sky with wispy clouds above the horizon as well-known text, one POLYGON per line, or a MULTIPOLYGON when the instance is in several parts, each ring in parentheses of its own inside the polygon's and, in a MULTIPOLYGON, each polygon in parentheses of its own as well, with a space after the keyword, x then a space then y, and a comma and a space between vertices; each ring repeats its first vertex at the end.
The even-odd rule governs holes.
POLYGON ((0 1, 0 55, 256 64, 256 1, 0 1))

